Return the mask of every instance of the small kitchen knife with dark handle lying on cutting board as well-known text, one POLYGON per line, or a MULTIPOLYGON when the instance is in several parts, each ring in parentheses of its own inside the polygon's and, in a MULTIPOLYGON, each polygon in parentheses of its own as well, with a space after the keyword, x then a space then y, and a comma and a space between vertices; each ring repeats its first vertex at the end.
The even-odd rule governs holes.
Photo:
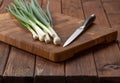
POLYGON ((72 43, 83 31, 86 30, 86 28, 93 23, 93 21, 95 20, 96 16, 95 14, 90 15, 86 20, 84 20, 84 22, 82 23, 82 25, 75 30, 75 32, 67 39, 67 41, 64 43, 63 47, 66 47, 67 45, 69 45, 70 43, 72 43))

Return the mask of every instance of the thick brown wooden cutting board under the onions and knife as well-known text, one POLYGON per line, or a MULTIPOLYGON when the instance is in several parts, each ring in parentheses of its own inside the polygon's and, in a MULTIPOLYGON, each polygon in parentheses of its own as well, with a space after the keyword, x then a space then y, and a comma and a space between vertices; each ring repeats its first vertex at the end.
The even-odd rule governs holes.
MULTIPOLYGON (((62 45, 81 24, 80 20, 61 14, 53 14, 53 21, 54 29, 62 39, 62 45)), ((62 45, 55 46, 52 43, 46 44, 33 40, 31 33, 23 28, 12 15, 0 14, 0 41, 54 62, 64 61, 77 52, 97 44, 114 41, 116 38, 116 30, 97 27, 94 24, 73 43, 63 48, 62 45)))

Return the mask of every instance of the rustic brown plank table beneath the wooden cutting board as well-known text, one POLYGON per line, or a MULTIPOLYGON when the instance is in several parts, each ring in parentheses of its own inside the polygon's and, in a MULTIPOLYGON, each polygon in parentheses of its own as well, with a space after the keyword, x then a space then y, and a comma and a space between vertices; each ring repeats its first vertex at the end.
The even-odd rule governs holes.
MULTIPOLYGON (((0 0, 0 13, 12 0, 0 0)), ((39 0, 45 8, 47 0, 39 0)), ((120 0, 50 0, 51 11, 84 19, 95 13, 98 27, 120 30, 120 0)), ((120 36, 62 63, 53 63, 0 42, 0 83, 120 83, 120 36)))

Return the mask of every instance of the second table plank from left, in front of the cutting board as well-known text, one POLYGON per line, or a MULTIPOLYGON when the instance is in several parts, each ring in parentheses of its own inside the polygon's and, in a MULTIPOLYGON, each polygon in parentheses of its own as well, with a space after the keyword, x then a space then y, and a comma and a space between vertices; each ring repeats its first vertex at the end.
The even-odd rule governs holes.
POLYGON ((33 83, 35 56, 12 47, 4 71, 4 83, 33 83))

